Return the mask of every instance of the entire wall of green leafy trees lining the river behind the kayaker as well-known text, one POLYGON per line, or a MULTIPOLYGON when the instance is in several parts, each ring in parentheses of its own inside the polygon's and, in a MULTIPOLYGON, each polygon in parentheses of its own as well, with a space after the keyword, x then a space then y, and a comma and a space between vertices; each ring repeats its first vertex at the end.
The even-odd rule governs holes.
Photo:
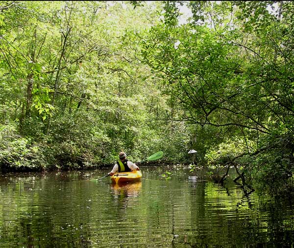
POLYGON ((293 16, 292 1, 1 1, 1 168, 92 168, 121 150, 189 164, 195 149, 215 176, 284 188, 293 16))

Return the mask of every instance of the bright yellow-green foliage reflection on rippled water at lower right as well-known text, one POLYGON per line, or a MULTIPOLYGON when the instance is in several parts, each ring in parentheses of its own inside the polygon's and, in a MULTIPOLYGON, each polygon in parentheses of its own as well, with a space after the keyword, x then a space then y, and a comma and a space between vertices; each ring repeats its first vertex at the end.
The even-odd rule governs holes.
POLYGON ((224 189, 212 182, 199 182, 193 187, 198 190, 191 192, 192 227, 184 233, 183 243, 193 247, 264 242, 267 234, 256 236, 256 233, 263 228, 265 217, 259 215, 257 206, 254 208, 254 203, 240 189, 224 189))

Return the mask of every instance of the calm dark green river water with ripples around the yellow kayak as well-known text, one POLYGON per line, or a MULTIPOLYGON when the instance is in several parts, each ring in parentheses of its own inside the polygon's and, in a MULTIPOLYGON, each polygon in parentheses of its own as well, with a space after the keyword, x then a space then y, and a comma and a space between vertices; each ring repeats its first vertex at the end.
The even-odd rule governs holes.
POLYGON ((260 248, 294 246, 294 207, 189 169, 142 167, 141 182, 106 170, 0 175, 0 248, 260 248))

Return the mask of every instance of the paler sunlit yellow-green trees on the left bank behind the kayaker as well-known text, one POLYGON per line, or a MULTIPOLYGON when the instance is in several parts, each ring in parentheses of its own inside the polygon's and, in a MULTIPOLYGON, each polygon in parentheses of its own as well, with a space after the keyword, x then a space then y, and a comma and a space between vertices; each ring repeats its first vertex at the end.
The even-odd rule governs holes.
POLYGON ((137 57, 137 34, 158 23, 161 3, 133 4, 23 1, 1 12, 0 123, 40 147, 42 169, 112 164, 121 150, 141 160, 165 147, 166 122, 156 119, 166 99, 137 57))

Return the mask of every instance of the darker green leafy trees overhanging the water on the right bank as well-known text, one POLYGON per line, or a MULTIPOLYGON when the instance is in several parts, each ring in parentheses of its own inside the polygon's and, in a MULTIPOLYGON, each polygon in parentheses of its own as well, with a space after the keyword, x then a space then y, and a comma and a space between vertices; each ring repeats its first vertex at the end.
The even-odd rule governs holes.
MULTIPOLYGON (((170 22, 178 19, 172 6, 176 2, 166 2, 166 22, 152 27, 149 39, 142 40, 142 60, 162 77, 170 119, 201 129, 211 126, 213 134, 221 134, 218 139, 205 137, 199 128, 190 131, 192 140, 204 137, 199 153, 202 162, 208 159, 209 164, 220 165, 236 157, 251 179, 251 172, 261 169, 252 162, 255 155, 265 167, 270 154, 279 157, 272 153, 270 142, 293 147, 293 140, 285 136, 293 136, 294 70, 289 64, 293 44, 288 35, 293 30, 289 16, 294 5, 192 1, 193 17, 181 26, 170 22)), ((200 147, 197 142, 192 146, 200 147)), ((293 164, 293 150, 283 154, 293 164)), ((260 179, 267 183, 272 170, 264 171, 260 179)), ((284 175, 280 170, 277 173, 284 175)))

